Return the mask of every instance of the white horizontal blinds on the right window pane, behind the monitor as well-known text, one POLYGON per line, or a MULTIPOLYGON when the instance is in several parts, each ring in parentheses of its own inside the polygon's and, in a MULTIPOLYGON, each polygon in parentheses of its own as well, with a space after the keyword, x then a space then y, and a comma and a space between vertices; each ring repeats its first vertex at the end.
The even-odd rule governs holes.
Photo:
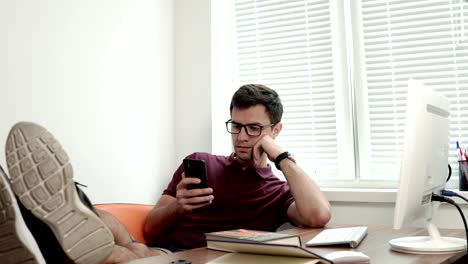
POLYGON ((362 2, 371 156, 371 173, 364 177, 398 178, 409 78, 449 98, 451 142, 460 139, 468 147, 468 49, 456 44, 461 6, 447 0, 362 2))

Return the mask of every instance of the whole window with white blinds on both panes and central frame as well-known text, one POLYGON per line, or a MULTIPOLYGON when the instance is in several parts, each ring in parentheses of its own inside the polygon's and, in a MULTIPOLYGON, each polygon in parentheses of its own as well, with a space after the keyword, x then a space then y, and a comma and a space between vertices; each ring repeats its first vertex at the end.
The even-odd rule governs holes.
POLYGON ((468 144, 465 1, 236 0, 239 84, 262 83, 285 107, 278 141, 322 186, 394 187, 415 78, 451 103, 468 144))

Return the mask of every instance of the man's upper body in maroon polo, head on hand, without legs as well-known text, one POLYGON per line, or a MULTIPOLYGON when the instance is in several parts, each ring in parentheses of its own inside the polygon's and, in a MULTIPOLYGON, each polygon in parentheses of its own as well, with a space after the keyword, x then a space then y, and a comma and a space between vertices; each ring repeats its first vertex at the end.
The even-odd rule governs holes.
POLYGON ((188 190, 197 178, 185 177, 182 165, 149 213, 145 238, 171 250, 205 246, 204 233, 247 228, 274 231, 289 221, 321 227, 330 204, 316 183, 274 139, 282 129, 278 94, 263 85, 245 85, 232 97, 234 153, 228 157, 193 153, 206 163, 209 188, 188 190), (287 182, 273 175, 275 163, 287 182))

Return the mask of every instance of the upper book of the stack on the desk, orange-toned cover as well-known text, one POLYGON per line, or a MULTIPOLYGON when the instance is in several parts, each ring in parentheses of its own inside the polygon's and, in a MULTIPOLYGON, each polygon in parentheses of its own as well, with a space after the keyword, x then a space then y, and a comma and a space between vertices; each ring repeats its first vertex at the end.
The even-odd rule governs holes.
POLYGON ((211 232, 205 234, 208 248, 211 240, 221 241, 251 241, 263 243, 275 243, 286 245, 301 245, 301 239, 298 235, 289 235, 284 233, 257 231, 249 229, 234 229, 226 231, 211 232))

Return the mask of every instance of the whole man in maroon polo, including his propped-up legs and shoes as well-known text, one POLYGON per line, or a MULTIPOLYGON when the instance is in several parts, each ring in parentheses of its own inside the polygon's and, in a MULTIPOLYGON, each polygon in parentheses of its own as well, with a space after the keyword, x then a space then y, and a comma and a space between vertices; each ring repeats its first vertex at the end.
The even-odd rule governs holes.
MULTIPOLYGON (((276 92, 261 85, 241 87, 226 122, 235 155, 191 155, 208 161, 211 187, 206 189, 187 190, 199 180, 184 178, 179 167, 148 216, 150 241, 180 250, 203 246, 209 231, 275 230, 285 221, 326 224, 327 200, 273 141, 282 128, 281 115, 276 92), (276 161, 288 183, 271 173, 267 158, 276 161)), ((0 170, 2 263, 120 263, 165 253, 134 241, 115 217, 93 208, 73 182, 67 154, 43 127, 16 124, 8 135, 6 159, 12 179, 0 170)))

